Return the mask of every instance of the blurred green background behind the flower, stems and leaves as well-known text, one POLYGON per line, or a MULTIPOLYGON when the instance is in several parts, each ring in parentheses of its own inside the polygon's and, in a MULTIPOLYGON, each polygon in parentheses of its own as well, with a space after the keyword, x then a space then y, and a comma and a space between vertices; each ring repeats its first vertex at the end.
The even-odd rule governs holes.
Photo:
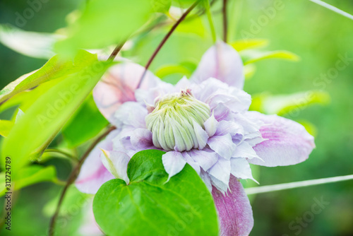
MULTIPOLYGON (((353 173, 353 21, 308 0, 280 1, 282 10, 273 17, 264 9, 275 6, 276 1, 235 0, 229 10, 229 41, 240 40, 244 32, 252 37, 270 40, 268 49, 286 49, 301 57, 301 61, 266 60, 256 63, 253 78, 245 83, 246 92, 255 95, 263 92, 272 94, 297 93, 306 90, 325 90, 330 94, 328 105, 313 105, 299 110, 288 118, 306 120, 316 126, 316 149, 309 160, 288 167, 260 167, 258 181, 261 185, 295 182, 306 179, 351 175, 353 173), (268 18, 256 32, 251 31, 253 22, 268 18), (345 69, 338 71, 328 81, 323 75, 335 68, 340 57, 348 57, 345 69)), ((330 0, 338 8, 353 14, 353 1, 330 0)), ((42 9, 28 20, 23 30, 53 33, 66 26, 65 16, 80 6, 81 1, 48 1, 42 9)), ((16 25, 16 12, 28 8, 26 1, 0 1, 0 23, 16 25)), ((218 35, 220 7, 213 7, 218 35)), ((205 20, 205 19, 203 19, 205 20)), ((181 25, 179 32, 172 35, 151 69, 157 71, 164 64, 197 62, 212 45, 207 23, 204 28, 195 28, 194 33, 183 29, 194 27, 181 25)), ((114 27, 114 26, 111 26, 114 27)), ((145 64, 157 47, 166 28, 152 31, 136 39, 133 49, 123 52, 124 57, 145 64)), ((23 73, 38 69, 44 59, 32 59, 0 45, 0 87, 15 80, 23 73)), ((4 119, 8 114, 1 114, 4 119)), ((35 134, 33 134, 35 138, 35 134)), ((18 143, 20 148, 20 143, 18 143)), ((70 163, 53 159, 47 163, 55 165, 60 179, 65 179, 71 170, 70 163)), ((45 235, 49 217, 44 206, 56 196, 61 187, 54 184, 36 184, 22 189, 13 209, 13 230, 1 230, 1 235, 45 235)), ((1 199, 1 208, 4 205, 1 199)), ((252 199, 255 225, 251 235, 353 235, 353 181, 324 184, 258 194, 252 199), (328 205, 318 214, 311 214, 315 199, 324 199, 328 205), (308 213, 309 212, 309 213, 308 213), (309 216, 313 216, 312 218, 309 216), (304 219, 303 219, 304 218, 304 219), (297 221, 298 220, 298 221, 297 221), (299 221, 302 220, 302 223, 299 221)), ((75 222, 80 214, 71 214, 68 226, 77 228, 75 222)), ((65 226, 66 227, 66 226, 65 226)), ((68 230, 70 232, 70 230, 68 230)), ((73 234, 75 235, 75 234, 73 234)))

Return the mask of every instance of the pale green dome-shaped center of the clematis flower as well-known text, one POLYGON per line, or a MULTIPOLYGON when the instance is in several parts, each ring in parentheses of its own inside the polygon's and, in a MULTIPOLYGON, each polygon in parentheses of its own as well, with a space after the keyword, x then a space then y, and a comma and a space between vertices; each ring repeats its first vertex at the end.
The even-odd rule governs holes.
POLYGON ((157 100, 145 122, 154 146, 181 152, 203 148, 198 133, 209 117, 210 107, 193 98, 190 90, 183 90, 157 100))

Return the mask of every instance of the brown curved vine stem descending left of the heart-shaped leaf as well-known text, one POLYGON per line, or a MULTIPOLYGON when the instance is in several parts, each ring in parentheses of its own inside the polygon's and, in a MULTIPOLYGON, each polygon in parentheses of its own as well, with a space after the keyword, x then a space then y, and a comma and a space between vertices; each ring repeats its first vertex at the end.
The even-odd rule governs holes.
POLYGON ((78 176, 78 173, 80 172, 80 168, 83 165, 83 163, 85 162, 86 158, 88 158, 88 155, 90 155, 90 152, 93 150, 93 148, 95 148, 95 146, 97 146, 98 143, 100 143, 100 141, 103 140, 103 138, 105 138, 111 131, 113 131, 114 129, 116 129, 115 126, 111 126, 109 129, 107 129, 107 131, 104 132, 104 134, 102 134, 101 136, 99 136, 88 148, 87 151, 85 151, 85 153, 83 154, 82 158, 80 158, 80 160, 78 161, 78 164, 76 165, 76 167, 73 169, 73 171, 71 172, 70 176, 68 177, 68 180, 66 182, 66 185, 63 189, 63 191, 61 192, 60 195, 60 199, 58 202, 58 205, 56 206, 56 210, 54 215, 52 216, 52 219, 50 220, 50 225, 49 225, 49 232, 48 235, 49 236, 53 236, 54 235, 54 228, 55 228, 55 223, 56 223, 56 218, 59 216, 59 211, 61 208, 61 204, 64 201, 64 196, 68 190, 68 187, 70 187, 70 185, 75 181, 75 179, 78 176))

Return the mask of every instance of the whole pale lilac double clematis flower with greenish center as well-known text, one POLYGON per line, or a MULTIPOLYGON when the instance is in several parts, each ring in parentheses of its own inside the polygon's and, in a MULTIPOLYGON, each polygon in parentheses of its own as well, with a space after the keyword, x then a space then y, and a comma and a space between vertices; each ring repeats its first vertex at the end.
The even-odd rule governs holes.
POLYGON ((169 178, 186 163, 201 176, 213 194, 221 235, 249 235, 252 210, 239 182, 253 179, 249 163, 300 163, 315 147, 313 136, 297 122, 249 112, 241 58, 223 42, 208 49, 193 76, 177 85, 148 71, 137 88, 143 72, 143 66, 124 62, 95 88, 97 107, 117 129, 92 151, 76 186, 95 194, 114 177, 128 182, 128 160, 138 151, 160 149, 169 178))

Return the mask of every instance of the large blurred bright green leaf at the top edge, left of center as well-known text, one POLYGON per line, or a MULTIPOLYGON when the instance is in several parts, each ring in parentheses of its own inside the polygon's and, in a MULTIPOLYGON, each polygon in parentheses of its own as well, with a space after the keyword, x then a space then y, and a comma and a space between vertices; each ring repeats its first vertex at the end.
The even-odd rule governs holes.
POLYGON ((76 49, 116 45, 148 22, 152 6, 146 0, 90 0, 78 20, 68 26, 68 38, 56 49, 71 55, 76 49))

